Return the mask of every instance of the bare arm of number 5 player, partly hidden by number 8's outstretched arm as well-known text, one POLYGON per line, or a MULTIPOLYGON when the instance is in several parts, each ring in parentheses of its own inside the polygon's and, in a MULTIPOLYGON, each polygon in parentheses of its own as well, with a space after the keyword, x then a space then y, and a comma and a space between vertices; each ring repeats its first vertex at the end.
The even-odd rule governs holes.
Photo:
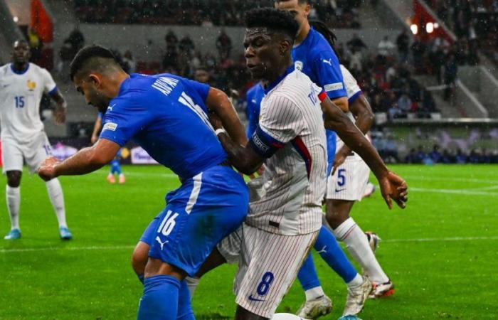
MULTIPOLYGON (((356 127, 358 127, 358 129, 360 129, 360 131, 364 134, 369 132, 373 124, 373 112, 369 102, 366 100, 366 97, 364 95, 360 95, 358 99, 354 100, 352 105, 349 105, 349 110, 351 110, 351 113, 356 119, 356 121, 354 122, 354 124, 356 124, 356 127)), ((334 158, 332 174, 335 173, 338 166, 344 163, 346 157, 349 156, 349 154, 351 154, 351 149, 349 148, 349 146, 346 146, 346 144, 344 144, 344 146, 342 146, 342 148, 337 151, 337 154, 334 158)))

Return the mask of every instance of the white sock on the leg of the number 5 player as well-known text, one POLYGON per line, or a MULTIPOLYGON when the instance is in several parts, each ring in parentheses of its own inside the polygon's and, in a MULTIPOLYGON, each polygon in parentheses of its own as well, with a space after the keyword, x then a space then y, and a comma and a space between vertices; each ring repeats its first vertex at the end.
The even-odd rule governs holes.
POLYGON ((351 256, 365 270, 374 283, 388 282, 389 278, 378 264, 369 245, 369 240, 353 218, 348 218, 334 230, 337 240, 344 242, 351 256))

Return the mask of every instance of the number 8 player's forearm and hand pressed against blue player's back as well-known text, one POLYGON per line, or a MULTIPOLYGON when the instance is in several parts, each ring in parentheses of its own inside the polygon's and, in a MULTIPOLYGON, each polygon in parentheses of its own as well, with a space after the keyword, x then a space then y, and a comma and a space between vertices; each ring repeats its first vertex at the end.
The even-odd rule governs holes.
POLYGON ((211 124, 213 124, 214 129, 217 130, 218 139, 228 154, 228 160, 230 163, 243 174, 254 174, 260 166, 265 161, 263 156, 254 151, 253 147, 250 144, 240 145, 235 143, 231 137, 228 137, 228 134, 225 132, 218 132, 218 129, 222 129, 221 119, 216 114, 210 114, 209 120, 211 124))

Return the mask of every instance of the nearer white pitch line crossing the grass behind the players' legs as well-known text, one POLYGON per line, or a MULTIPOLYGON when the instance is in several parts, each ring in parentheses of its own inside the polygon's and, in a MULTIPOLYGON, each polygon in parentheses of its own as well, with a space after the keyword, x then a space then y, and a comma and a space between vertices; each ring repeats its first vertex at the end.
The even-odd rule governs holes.
MULTIPOLYGON (((387 239, 381 240, 381 243, 391 242, 438 242, 438 241, 473 241, 473 240, 498 240, 498 235, 490 237, 448 237, 448 238, 414 238, 414 239, 387 239)), ((37 252, 37 251, 85 251, 85 250, 129 250, 133 249, 134 245, 116 245, 107 247, 27 247, 23 249, 0 249, 0 253, 15 253, 15 252, 37 252)))

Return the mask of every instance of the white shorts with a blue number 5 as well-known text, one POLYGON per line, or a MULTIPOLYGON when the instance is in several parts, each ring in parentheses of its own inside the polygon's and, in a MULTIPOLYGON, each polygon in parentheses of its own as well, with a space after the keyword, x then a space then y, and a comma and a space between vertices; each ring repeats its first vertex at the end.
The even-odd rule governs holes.
POLYGON ((327 199, 361 201, 370 168, 360 156, 348 156, 344 164, 337 167, 334 176, 327 178, 327 199))

